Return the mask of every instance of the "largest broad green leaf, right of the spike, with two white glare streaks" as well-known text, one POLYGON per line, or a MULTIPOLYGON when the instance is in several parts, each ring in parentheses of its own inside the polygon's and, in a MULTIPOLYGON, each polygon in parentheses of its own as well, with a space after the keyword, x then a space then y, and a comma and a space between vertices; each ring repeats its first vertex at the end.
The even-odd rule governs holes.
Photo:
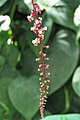
MULTIPOLYGON (((52 38, 51 38, 52 39, 52 38)), ((79 46, 75 44, 75 34, 70 30, 60 30, 53 38, 49 49, 51 72, 50 93, 63 86, 72 75, 79 57, 79 46)))

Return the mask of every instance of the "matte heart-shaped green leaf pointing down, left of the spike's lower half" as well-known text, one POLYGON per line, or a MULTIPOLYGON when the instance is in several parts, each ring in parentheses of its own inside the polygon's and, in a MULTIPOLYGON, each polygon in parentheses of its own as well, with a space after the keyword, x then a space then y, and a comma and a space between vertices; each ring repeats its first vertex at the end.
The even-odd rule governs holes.
POLYGON ((27 120, 31 120, 39 108, 38 77, 17 77, 9 86, 9 97, 13 106, 27 120))

